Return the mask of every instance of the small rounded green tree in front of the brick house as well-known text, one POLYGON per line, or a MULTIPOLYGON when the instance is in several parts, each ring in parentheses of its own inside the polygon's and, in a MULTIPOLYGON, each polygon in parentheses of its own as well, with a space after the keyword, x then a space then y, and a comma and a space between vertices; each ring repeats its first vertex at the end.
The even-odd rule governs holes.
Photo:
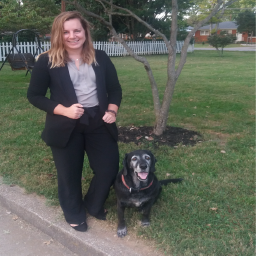
POLYGON ((217 52, 223 55, 223 48, 229 44, 232 44, 236 40, 236 37, 232 34, 228 34, 226 31, 221 31, 220 34, 213 33, 208 36, 207 42, 216 48, 217 52))

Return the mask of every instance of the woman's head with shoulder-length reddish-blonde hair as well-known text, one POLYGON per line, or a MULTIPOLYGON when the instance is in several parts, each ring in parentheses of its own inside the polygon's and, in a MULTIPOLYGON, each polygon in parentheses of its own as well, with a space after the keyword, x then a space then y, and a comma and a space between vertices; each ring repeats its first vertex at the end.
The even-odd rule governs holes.
POLYGON ((78 58, 88 65, 96 63, 90 24, 77 13, 63 12, 52 25, 51 49, 48 51, 51 68, 64 67, 70 60, 78 58))

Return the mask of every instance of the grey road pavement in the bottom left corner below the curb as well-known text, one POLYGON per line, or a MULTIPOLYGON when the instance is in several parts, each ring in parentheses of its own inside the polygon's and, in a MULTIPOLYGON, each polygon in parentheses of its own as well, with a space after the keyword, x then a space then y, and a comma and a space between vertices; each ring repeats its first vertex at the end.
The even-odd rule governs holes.
POLYGON ((1 256, 75 256, 62 244, 0 205, 1 256))

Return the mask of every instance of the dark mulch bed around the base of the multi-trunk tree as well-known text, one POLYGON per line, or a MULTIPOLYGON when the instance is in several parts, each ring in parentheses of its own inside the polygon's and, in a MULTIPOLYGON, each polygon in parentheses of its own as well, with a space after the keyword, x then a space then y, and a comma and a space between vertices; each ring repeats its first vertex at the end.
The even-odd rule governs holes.
POLYGON ((161 136, 153 134, 153 127, 118 127, 119 141, 124 143, 134 142, 137 145, 145 142, 151 142, 155 146, 166 145, 170 147, 182 145, 195 145, 197 142, 202 141, 202 135, 198 132, 167 126, 166 130, 161 136))

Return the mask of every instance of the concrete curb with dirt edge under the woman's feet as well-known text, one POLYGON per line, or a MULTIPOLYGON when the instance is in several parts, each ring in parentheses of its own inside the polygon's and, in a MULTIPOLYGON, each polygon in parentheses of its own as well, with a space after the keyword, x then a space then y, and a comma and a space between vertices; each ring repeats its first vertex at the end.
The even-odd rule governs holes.
MULTIPOLYGON (((116 227, 107 221, 99 221, 90 216, 87 219, 88 231, 77 232, 65 222, 59 207, 46 206, 43 197, 26 194, 24 189, 18 186, 3 184, 1 177, 0 204, 77 255, 163 255, 152 244, 129 234, 125 238, 118 238, 116 227)), ((17 229, 16 232, 22 230, 17 229)), ((38 255, 46 254, 42 251, 42 254, 38 255)))

